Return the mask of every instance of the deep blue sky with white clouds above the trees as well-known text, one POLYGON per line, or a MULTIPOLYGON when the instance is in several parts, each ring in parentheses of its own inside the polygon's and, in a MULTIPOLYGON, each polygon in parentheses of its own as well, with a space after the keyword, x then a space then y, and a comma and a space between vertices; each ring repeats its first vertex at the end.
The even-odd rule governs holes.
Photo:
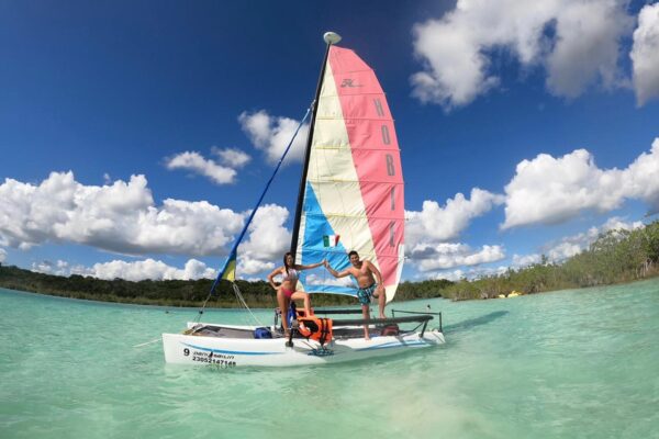
MULTIPOLYGON (((659 2, 0 2, 0 262, 212 278, 313 100, 334 31, 378 75, 403 279, 477 278, 659 212, 659 2)), ((239 248, 290 246, 304 125, 239 248)))

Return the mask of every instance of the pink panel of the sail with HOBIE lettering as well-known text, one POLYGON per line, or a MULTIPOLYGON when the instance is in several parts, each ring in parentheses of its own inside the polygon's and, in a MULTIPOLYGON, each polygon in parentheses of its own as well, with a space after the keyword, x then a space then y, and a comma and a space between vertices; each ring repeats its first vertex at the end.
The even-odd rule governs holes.
POLYGON ((373 240, 375 262, 384 285, 395 288, 403 263, 405 207, 399 144, 389 104, 373 70, 353 50, 332 46, 328 64, 373 240))

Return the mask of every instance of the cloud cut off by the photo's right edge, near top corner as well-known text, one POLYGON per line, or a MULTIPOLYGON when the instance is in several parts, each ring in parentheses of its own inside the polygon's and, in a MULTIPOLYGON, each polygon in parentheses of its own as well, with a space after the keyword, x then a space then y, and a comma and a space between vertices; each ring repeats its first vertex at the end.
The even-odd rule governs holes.
POLYGON ((643 105, 659 95, 659 3, 640 10, 629 57, 636 100, 643 105))

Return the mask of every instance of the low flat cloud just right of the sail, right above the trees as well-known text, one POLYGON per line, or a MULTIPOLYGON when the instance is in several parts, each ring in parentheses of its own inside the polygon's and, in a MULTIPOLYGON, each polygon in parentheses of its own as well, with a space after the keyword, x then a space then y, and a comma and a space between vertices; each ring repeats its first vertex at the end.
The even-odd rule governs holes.
POLYGON ((418 271, 446 270, 460 266, 478 266, 502 260, 505 252, 501 246, 483 246, 474 251, 465 244, 417 245, 409 255, 418 271))

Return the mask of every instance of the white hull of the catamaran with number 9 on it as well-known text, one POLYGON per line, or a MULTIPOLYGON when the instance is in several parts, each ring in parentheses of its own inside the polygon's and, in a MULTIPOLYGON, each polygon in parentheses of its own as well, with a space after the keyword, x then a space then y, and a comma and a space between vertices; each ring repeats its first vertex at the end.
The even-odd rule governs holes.
MULTIPOLYGON (((188 324, 191 327, 192 324, 188 324)), ((256 326, 226 326, 224 328, 254 330, 256 326)), ((401 333, 399 336, 371 336, 364 338, 334 339, 324 347, 314 340, 293 339, 293 347, 286 346, 288 339, 247 339, 163 334, 165 361, 176 364, 213 364, 220 368, 244 365, 289 367, 339 363, 366 358, 384 357, 428 348, 444 344, 444 335, 436 330, 401 333)))

